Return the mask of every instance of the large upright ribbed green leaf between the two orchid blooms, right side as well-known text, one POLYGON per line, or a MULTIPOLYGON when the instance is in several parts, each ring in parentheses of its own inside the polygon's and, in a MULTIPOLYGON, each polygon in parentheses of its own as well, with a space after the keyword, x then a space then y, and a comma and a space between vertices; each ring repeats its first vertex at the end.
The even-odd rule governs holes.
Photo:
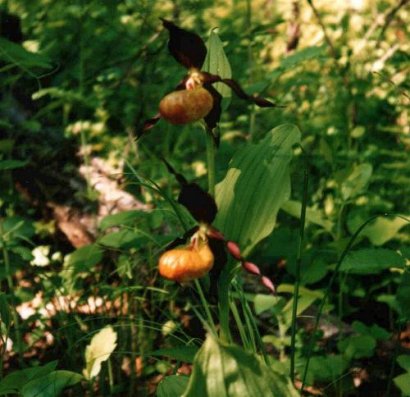
POLYGON ((240 150, 216 186, 215 225, 244 255, 272 232, 279 208, 289 199, 289 163, 299 140, 292 124, 274 128, 258 144, 240 150))

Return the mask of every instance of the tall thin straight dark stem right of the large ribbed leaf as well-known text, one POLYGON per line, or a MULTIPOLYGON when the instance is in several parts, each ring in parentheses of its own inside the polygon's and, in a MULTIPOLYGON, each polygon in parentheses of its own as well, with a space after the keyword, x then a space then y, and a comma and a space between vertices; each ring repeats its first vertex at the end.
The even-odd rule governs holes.
POLYGON ((292 382, 295 381, 296 316, 297 316, 297 311, 298 311, 300 269, 302 266, 302 251, 303 251, 303 238, 305 234, 307 195, 308 195, 308 170, 307 170, 307 167, 305 166, 305 171, 304 171, 304 176, 303 176, 303 201, 302 201, 302 208, 300 211, 299 249, 298 249, 298 256, 296 258, 296 282, 295 282, 295 290, 293 293, 292 329, 291 329, 291 339, 290 339, 290 378, 292 382))

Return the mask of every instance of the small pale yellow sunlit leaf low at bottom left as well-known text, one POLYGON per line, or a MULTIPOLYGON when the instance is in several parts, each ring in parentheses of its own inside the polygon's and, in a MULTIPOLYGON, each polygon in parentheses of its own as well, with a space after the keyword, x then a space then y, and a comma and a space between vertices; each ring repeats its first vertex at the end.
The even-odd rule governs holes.
POLYGON ((107 326, 95 334, 85 349, 86 379, 96 377, 101 371, 101 364, 107 361, 117 346, 117 333, 111 326, 107 326))

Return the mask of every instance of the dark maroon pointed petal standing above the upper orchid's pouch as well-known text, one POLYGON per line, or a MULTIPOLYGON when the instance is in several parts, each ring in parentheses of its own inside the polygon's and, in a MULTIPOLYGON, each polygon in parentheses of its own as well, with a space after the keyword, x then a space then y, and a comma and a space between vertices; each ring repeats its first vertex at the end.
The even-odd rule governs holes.
POLYGON ((207 52, 203 40, 196 33, 181 29, 171 21, 161 20, 169 31, 168 49, 176 61, 188 69, 201 69, 207 52))

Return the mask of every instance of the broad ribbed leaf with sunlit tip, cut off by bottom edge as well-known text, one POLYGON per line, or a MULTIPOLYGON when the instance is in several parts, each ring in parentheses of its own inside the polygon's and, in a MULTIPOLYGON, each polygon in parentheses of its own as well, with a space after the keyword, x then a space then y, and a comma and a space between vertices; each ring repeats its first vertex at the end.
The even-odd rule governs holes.
POLYGON ((195 357, 183 397, 296 397, 290 381, 254 354, 208 336, 195 357))

